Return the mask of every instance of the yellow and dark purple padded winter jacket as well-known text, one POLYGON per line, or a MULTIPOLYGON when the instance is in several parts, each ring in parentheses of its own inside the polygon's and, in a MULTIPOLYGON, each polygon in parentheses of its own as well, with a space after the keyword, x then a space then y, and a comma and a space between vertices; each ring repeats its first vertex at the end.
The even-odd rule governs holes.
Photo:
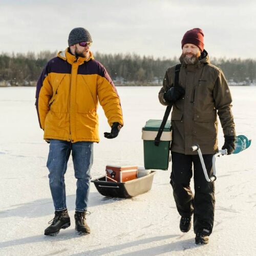
POLYGON ((51 59, 36 88, 44 139, 99 142, 98 101, 110 126, 123 125, 119 96, 105 68, 93 58, 76 59, 67 48, 51 59))

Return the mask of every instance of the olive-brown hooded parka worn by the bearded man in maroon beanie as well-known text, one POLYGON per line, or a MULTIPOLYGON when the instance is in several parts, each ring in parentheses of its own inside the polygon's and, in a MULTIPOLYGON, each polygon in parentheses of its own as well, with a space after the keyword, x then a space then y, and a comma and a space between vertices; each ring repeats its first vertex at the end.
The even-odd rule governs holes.
MULTIPOLYGON (((168 105, 163 94, 174 86, 174 80, 175 66, 167 69, 159 92, 159 101, 163 105, 168 105)), ((190 151, 190 146, 198 144, 202 154, 218 152, 217 114, 224 135, 236 136, 231 94, 223 72, 210 64, 204 50, 197 64, 182 63, 179 85, 185 89, 185 95, 173 105, 171 151, 185 155, 197 154, 190 151)))

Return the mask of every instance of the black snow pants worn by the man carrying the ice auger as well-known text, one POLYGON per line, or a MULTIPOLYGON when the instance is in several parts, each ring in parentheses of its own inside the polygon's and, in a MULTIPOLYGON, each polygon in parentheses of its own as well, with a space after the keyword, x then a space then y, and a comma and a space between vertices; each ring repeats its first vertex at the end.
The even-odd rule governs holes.
MULTIPOLYGON (((203 155, 208 175, 212 174, 212 156, 203 155)), ((183 217, 190 217, 194 214, 194 232, 203 232, 209 235, 214 226, 214 183, 206 181, 198 155, 172 152, 172 162, 170 184, 173 187, 179 214, 183 217), (192 177, 192 163, 195 196, 189 185, 192 177)))

